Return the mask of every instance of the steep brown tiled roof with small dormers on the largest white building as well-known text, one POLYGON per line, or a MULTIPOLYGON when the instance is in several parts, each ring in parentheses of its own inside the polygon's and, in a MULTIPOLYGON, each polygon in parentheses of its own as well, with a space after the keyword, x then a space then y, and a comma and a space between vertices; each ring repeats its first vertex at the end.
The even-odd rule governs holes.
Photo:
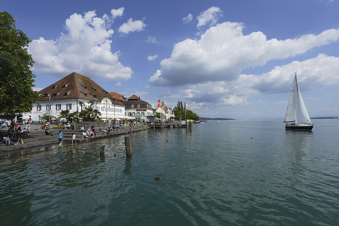
POLYGON ((100 102, 100 99, 107 97, 114 104, 123 105, 120 100, 118 101, 92 79, 75 72, 40 90, 39 94, 42 95, 38 100, 48 100, 48 95, 50 95, 53 100, 80 98, 100 102))

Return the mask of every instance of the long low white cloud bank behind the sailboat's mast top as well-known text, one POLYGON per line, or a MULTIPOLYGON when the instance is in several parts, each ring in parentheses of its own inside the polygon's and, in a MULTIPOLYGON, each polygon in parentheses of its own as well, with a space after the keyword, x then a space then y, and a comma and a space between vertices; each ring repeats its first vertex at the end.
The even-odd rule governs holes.
MULTIPOLYGON (((319 54, 304 61, 293 61, 277 66, 261 75, 242 74, 234 81, 206 82, 190 85, 171 98, 184 98, 194 105, 203 103, 205 108, 221 105, 247 105, 247 98, 262 93, 289 93, 294 71, 297 70, 298 85, 301 91, 317 87, 335 87, 339 84, 339 57, 319 54), (208 101, 206 101, 206 99, 208 101)), ((287 95, 286 94, 286 95, 287 95)), ((287 98, 287 96, 286 96, 287 98)), ((307 99, 307 97, 305 97, 307 99)), ((274 103, 287 103, 281 100, 274 103)))

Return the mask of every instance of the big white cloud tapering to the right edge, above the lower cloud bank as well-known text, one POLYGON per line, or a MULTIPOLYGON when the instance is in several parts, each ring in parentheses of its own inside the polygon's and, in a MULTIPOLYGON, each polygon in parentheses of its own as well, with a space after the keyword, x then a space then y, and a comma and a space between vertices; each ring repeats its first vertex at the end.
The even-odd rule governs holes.
POLYGON ((286 40, 267 40, 262 32, 243 35, 242 29, 242 23, 224 22, 210 27, 199 40, 176 43, 171 57, 161 61, 161 70, 148 81, 156 86, 234 81, 246 68, 293 57, 339 38, 339 29, 286 40))

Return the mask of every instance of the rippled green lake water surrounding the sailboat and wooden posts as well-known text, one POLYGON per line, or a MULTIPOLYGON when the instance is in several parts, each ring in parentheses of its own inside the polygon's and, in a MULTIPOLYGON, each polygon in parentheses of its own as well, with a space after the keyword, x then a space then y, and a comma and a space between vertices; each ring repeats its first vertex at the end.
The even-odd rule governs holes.
POLYGON ((3 160, 0 225, 339 225, 339 120, 312 121, 148 129, 130 160, 124 136, 3 160))

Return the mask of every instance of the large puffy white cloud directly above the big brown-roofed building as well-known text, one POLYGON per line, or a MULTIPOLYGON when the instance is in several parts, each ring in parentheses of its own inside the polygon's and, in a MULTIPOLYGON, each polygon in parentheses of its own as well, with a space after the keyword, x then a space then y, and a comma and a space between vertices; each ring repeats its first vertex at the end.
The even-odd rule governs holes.
POLYGON ((109 38, 114 31, 107 29, 105 19, 95 16, 95 11, 84 16, 75 13, 66 19, 66 32, 56 40, 33 40, 28 47, 35 61, 33 71, 60 77, 75 71, 88 77, 129 79, 131 68, 118 61, 119 51, 111 52, 109 38))

